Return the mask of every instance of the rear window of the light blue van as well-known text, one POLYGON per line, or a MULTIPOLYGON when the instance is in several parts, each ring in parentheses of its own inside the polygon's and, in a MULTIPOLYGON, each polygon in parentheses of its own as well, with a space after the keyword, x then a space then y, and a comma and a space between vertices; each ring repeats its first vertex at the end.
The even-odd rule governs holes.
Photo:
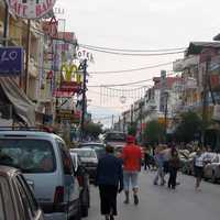
POLYGON ((48 141, 0 139, 0 164, 20 168, 23 173, 52 173, 56 163, 48 141))

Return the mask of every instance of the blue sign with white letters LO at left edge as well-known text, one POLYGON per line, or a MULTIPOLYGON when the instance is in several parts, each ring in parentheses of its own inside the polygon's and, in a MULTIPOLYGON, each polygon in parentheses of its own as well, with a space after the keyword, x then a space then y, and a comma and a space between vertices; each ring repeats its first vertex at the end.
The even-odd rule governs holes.
POLYGON ((0 47, 0 77, 18 76, 23 73, 23 48, 0 47))

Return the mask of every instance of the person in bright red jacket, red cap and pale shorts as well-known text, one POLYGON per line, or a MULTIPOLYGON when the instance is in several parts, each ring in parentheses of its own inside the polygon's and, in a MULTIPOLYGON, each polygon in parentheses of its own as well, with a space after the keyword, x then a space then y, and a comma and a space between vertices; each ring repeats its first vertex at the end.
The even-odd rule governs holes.
POLYGON ((135 138, 132 135, 128 135, 127 145, 123 147, 122 158, 123 158, 123 172, 124 172, 124 193, 125 193, 125 201, 124 204, 129 204, 129 186, 130 182, 133 189, 133 198, 134 204, 139 204, 139 172, 141 170, 141 160, 142 153, 141 147, 135 145, 135 138))

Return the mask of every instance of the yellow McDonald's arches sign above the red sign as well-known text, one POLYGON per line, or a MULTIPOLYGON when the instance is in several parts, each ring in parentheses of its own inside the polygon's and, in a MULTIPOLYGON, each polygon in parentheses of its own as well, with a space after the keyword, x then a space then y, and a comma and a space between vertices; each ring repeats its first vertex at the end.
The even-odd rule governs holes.
POLYGON ((82 82, 82 75, 79 74, 78 67, 75 64, 64 64, 62 66, 62 73, 65 81, 76 81, 77 84, 82 82))

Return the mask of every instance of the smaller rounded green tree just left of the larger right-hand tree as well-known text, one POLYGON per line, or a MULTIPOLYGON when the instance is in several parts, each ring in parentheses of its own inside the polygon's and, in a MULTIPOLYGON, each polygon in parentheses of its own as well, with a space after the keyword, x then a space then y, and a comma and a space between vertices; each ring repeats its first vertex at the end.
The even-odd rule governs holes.
POLYGON ((144 142, 148 144, 157 144, 164 141, 164 127, 157 120, 152 120, 146 123, 144 129, 144 142))

